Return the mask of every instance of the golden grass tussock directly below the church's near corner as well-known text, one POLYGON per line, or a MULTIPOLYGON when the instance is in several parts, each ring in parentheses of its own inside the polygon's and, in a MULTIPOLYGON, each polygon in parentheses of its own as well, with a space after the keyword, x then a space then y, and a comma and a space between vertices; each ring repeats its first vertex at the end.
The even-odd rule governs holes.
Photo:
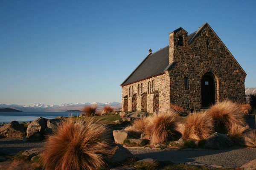
MULTIPOLYGON (((178 139, 183 126, 179 122, 178 114, 175 111, 161 113, 153 116, 151 123, 151 143, 162 143, 178 139)), ((149 129, 148 129, 149 130, 149 129)))

